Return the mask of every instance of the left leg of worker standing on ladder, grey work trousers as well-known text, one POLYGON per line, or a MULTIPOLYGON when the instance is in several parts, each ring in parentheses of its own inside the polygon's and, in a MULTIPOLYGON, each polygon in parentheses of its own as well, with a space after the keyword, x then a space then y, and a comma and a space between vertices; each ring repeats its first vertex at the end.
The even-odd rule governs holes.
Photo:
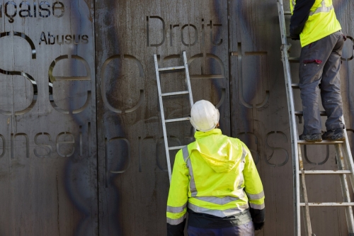
POLYGON ((324 64, 331 55, 334 44, 327 36, 302 47, 299 58, 299 87, 304 112, 303 134, 321 133, 319 83, 321 82, 324 64))

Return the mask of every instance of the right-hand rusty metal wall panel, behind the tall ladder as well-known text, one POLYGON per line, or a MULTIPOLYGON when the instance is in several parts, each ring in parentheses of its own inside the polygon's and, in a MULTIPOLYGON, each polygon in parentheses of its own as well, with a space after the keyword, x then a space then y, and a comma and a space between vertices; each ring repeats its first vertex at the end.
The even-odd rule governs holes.
MULTIPOLYGON (((284 1, 285 11, 290 11, 284 1)), ((256 235, 293 235, 292 160, 290 125, 287 114, 285 83, 280 57, 280 34, 276 1, 232 1, 230 12, 230 91, 232 95, 232 135, 240 137, 259 158, 258 172, 265 189, 266 225, 256 235)), ((333 1, 338 20, 346 35, 354 35, 353 3, 333 1)), ((287 27, 290 16, 286 16, 287 27)), ((299 57, 299 41, 290 41, 290 55, 299 57)), ((353 55, 348 40, 343 57, 353 55)), ((350 108, 350 83, 353 60, 343 60, 342 95, 346 128, 353 144, 353 109, 350 108), (348 112, 349 111, 349 112, 348 112)), ((298 64, 292 64, 293 82, 298 82, 298 64)), ((351 87, 353 88, 353 86, 351 87)), ((295 109, 302 110, 299 91, 295 91, 295 109)), ((323 108, 322 108, 323 111, 323 108)), ((324 124, 323 118, 323 124, 324 124)), ((325 127, 323 125, 325 131, 325 127)), ((299 123, 299 133, 302 124, 299 123)), ((353 145, 352 145, 353 146, 353 145)), ((336 169, 334 148, 307 147, 306 169, 336 169)), ((307 177, 309 201, 343 201, 336 176, 307 177)), ((343 208, 312 208, 312 230, 316 235, 348 235, 343 208)), ((303 219, 302 219, 303 220, 303 219)), ((302 222, 302 226, 304 222, 302 222)), ((302 228, 304 234, 304 229, 302 228)))

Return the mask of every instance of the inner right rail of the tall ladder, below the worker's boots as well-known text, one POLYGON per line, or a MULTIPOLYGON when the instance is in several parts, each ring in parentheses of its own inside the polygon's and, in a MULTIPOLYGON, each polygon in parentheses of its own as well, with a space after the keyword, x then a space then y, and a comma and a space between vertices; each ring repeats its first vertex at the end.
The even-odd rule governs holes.
MULTIPOLYGON (((338 167, 339 169, 344 170, 345 163, 343 161, 343 152, 342 152, 343 146, 341 144, 336 144, 335 147, 336 147, 336 157, 337 157, 338 167)), ((350 193, 349 193, 349 186, 348 186, 346 174, 341 174, 340 179, 341 179, 343 201, 350 203, 350 193)), ((348 232, 349 234, 354 233, 353 208, 351 206, 346 206, 345 212, 346 212, 346 221, 348 225, 348 232)))

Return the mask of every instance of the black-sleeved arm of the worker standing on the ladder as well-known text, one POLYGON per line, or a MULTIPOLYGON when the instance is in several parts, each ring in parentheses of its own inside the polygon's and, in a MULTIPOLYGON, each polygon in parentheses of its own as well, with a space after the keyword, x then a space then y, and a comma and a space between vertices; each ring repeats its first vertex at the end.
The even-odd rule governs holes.
POLYGON ((294 11, 290 19, 290 37, 299 40, 300 33, 305 26, 309 12, 315 0, 296 0, 294 11))

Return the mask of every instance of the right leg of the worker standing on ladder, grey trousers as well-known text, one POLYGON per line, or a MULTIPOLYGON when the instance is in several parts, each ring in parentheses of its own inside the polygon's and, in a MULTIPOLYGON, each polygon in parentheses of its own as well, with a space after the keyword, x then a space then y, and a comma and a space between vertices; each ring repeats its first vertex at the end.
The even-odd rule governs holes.
POLYGON ((329 59, 324 64, 324 71, 321 79, 321 100, 322 106, 327 114, 326 129, 335 130, 343 128, 341 117, 343 116, 341 79, 339 69, 341 68, 341 55, 343 49, 343 34, 336 32, 329 35, 331 42, 334 42, 333 50, 329 59))

